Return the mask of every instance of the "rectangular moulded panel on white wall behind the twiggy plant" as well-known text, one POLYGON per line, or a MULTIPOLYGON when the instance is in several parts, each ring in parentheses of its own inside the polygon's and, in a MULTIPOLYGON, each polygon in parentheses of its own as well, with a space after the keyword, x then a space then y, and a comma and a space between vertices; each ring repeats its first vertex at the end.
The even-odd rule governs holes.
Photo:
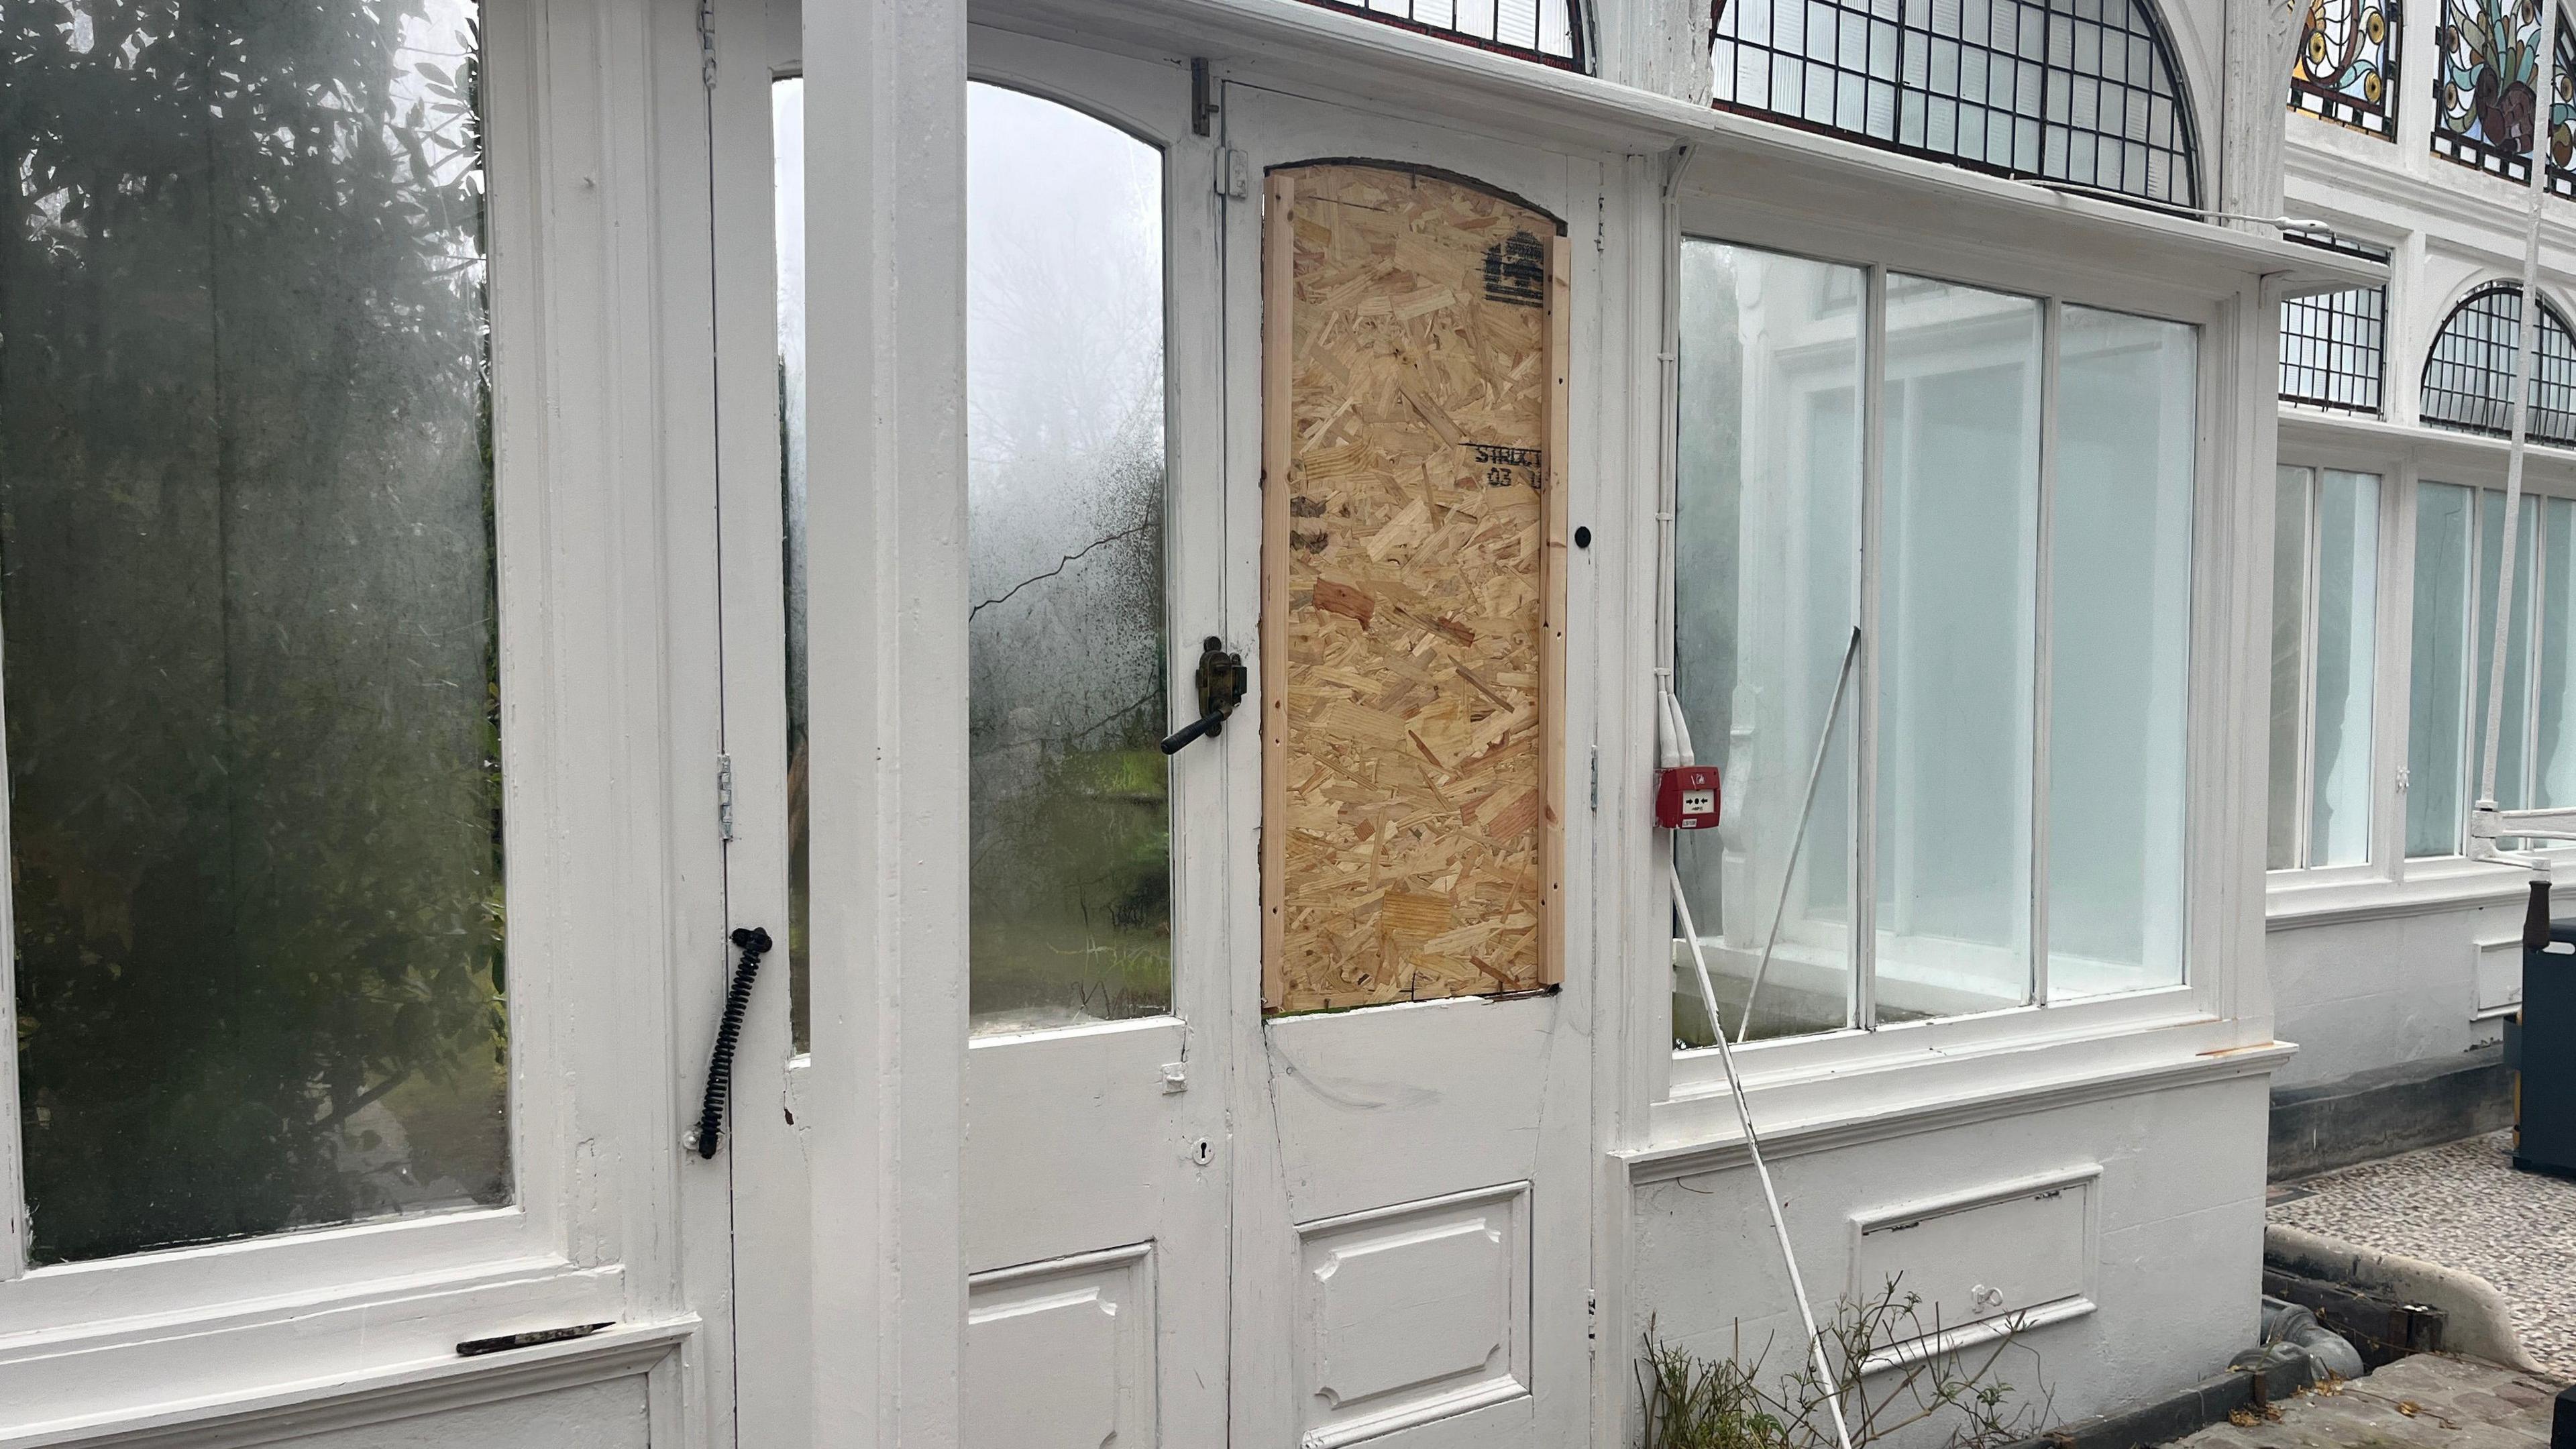
POLYGON ((1852 1299, 1891 1281, 1922 1299, 1922 1336, 1880 1346, 1870 1369, 2092 1312, 2099 1191, 2102 1168, 2084 1165, 1857 1214, 1852 1299))

